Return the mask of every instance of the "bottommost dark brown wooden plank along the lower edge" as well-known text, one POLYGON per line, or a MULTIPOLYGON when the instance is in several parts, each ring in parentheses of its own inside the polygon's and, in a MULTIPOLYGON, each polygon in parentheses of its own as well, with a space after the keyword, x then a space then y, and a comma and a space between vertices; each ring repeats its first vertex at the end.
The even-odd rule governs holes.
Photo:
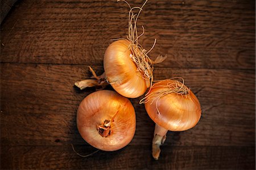
MULTIPOLYGON (((75 146, 84 155, 95 151, 75 146)), ((254 169, 255 147, 170 147, 160 159, 150 146, 128 146, 114 152, 99 151, 82 158, 71 146, 2 147, 1 169, 254 169), (129 158, 129 159, 128 159, 129 158)))

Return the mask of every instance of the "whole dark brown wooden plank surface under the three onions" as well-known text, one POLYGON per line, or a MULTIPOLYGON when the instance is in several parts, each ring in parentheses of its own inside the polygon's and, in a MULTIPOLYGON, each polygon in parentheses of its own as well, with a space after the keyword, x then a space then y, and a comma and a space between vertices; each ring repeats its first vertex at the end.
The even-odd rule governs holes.
MULTIPOLYGON (((142 1, 129 1, 141 6, 142 1)), ((110 39, 127 34, 125 3, 18 1, 1 24, 1 169, 255 169, 255 1, 148 1, 138 24, 155 80, 185 79, 202 108, 198 125, 168 132, 151 157, 154 122, 139 97, 132 142, 89 146, 76 127, 77 80, 104 72, 110 39)), ((111 89, 111 88, 108 88, 111 89)))

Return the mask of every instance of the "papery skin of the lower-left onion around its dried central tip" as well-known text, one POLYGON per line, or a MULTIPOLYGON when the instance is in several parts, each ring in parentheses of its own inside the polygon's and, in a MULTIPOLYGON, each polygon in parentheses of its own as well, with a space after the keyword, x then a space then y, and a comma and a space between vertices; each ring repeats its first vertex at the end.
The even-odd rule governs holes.
POLYGON ((110 90, 89 94, 77 110, 77 128, 80 135, 91 146, 103 151, 115 151, 125 147, 133 139, 135 127, 135 111, 129 99, 110 90), (102 137, 97 126, 113 117, 110 135, 102 137))

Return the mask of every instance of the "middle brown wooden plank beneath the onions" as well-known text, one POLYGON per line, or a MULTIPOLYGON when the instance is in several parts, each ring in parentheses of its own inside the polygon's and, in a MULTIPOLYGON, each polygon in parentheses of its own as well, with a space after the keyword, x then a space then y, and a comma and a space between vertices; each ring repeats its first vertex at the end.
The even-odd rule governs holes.
MULTIPOLYGON (((102 67, 93 67, 102 73, 102 67)), ((91 75, 86 65, 1 64, 1 144, 85 144, 76 128, 79 103, 94 88, 73 83, 91 75)), ((156 68, 155 80, 183 76, 201 102, 199 124, 169 132, 172 146, 255 146, 254 71, 156 68)), ((137 130, 131 146, 148 145, 154 123, 139 99, 131 99, 137 130)))

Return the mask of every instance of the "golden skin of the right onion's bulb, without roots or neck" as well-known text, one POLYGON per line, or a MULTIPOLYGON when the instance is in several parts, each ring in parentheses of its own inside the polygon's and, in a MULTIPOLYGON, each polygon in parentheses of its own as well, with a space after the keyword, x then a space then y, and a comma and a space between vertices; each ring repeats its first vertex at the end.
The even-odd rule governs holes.
MULTIPOLYGON (((150 93, 158 92, 174 80, 163 80, 156 84, 150 93)), ((145 103, 145 107, 150 118, 159 126, 170 131, 184 131, 196 126, 201 117, 201 107, 198 99, 191 90, 187 97, 177 93, 167 94, 159 98, 158 110, 156 109, 156 100, 145 103)))

